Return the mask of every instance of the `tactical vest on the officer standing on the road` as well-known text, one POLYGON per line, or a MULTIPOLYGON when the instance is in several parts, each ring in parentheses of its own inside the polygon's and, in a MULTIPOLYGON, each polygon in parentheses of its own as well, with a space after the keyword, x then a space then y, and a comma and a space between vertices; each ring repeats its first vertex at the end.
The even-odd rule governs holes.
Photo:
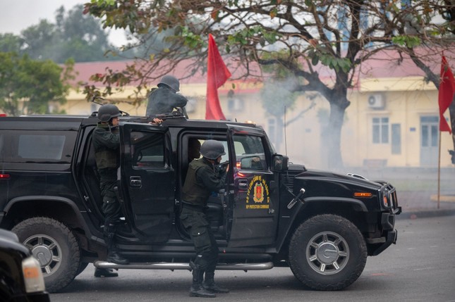
POLYGON ((202 167, 210 167, 210 163, 207 163, 202 158, 194 160, 188 167, 186 173, 185 184, 183 185, 182 199, 185 203, 190 203, 195 206, 207 206, 207 199, 210 196, 210 190, 207 189, 202 182, 198 182, 196 178, 196 172, 202 167))

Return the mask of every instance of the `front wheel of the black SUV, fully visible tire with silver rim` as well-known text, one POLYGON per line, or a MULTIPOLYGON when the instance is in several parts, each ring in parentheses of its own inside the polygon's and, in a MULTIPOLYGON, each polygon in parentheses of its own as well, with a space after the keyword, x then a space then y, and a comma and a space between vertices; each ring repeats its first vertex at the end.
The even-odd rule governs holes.
POLYGON ((289 266, 311 289, 345 289, 358 279, 367 260, 365 240, 352 222, 317 215, 303 222, 289 244, 289 266))

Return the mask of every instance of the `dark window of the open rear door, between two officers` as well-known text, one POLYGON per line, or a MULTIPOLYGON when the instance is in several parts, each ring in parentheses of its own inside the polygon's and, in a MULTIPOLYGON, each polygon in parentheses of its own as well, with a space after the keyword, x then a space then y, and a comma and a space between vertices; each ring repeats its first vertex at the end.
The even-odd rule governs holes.
POLYGON ((131 156, 133 168, 163 168, 164 134, 131 132, 131 156))

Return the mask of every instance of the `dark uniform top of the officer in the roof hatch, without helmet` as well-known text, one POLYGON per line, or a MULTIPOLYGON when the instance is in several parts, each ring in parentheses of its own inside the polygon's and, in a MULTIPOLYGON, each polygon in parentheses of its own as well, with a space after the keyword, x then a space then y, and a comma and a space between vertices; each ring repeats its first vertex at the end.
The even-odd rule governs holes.
POLYGON ((152 117, 157 114, 171 113, 174 108, 183 108, 188 102, 185 96, 177 94, 166 85, 159 85, 150 93, 148 99, 146 115, 152 117))

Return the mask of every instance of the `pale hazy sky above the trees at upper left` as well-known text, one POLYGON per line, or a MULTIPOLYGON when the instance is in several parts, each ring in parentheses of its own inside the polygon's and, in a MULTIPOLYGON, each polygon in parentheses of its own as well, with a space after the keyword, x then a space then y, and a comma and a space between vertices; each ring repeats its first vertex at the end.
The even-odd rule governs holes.
MULTIPOLYGON (((55 22, 55 11, 60 6, 69 11, 76 4, 84 4, 90 0, 0 0, 0 32, 20 34, 21 30, 30 25, 37 25, 40 20, 55 22)), ((120 44, 123 34, 111 34, 111 42, 120 44)))

